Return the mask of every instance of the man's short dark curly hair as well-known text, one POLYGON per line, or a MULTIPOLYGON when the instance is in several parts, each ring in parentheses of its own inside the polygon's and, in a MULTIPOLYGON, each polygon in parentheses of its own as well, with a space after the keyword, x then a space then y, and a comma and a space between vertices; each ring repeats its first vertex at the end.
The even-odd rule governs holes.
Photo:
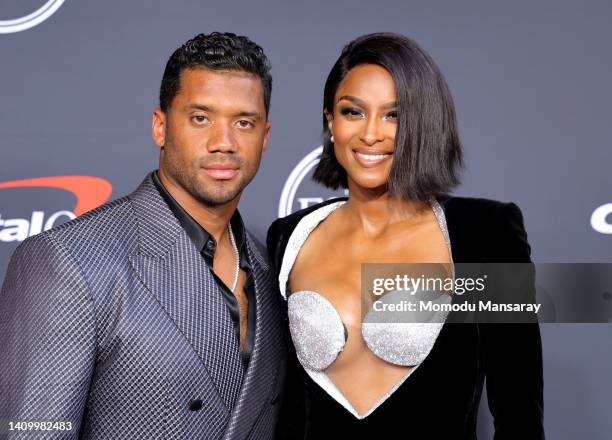
POLYGON ((266 115, 270 114, 272 75, 263 49, 249 38, 230 32, 199 34, 176 49, 166 63, 159 89, 159 107, 166 112, 180 89, 181 73, 190 68, 242 71, 261 79, 266 115))

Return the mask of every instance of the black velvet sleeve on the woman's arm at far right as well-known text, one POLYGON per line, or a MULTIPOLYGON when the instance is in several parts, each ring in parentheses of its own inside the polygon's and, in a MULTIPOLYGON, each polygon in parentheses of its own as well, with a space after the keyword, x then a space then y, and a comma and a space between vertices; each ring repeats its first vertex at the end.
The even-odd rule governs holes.
MULTIPOLYGON (((494 224, 487 261, 531 262, 519 207, 514 203, 501 205, 494 224)), ((544 439, 539 324, 480 324, 479 332, 494 439, 544 439)))

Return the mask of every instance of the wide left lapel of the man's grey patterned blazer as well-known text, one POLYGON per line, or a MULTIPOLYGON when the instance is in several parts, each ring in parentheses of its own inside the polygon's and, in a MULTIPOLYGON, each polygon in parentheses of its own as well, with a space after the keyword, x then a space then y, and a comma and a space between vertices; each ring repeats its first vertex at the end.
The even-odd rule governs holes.
POLYGON ((139 252, 131 256, 132 266, 202 361, 216 390, 211 396, 227 415, 244 369, 221 292, 150 178, 131 199, 140 221, 139 252))

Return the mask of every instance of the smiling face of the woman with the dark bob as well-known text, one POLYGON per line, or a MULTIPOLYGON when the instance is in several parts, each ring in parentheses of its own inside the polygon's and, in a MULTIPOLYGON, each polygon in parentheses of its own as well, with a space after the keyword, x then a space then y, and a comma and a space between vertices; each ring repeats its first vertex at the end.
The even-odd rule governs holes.
POLYGON ((344 77, 326 114, 334 152, 352 186, 386 186, 397 130, 397 98, 391 74, 375 64, 362 64, 344 77))

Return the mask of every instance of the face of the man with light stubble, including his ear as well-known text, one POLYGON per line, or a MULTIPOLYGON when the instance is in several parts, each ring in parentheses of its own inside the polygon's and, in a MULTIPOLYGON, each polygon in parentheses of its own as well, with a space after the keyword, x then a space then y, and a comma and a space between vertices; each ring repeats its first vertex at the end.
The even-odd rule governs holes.
POLYGON ((160 174, 207 206, 241 194, 269 134, 261 80, 246 72, 186 69, 168 111, 153 113, 160 174))

